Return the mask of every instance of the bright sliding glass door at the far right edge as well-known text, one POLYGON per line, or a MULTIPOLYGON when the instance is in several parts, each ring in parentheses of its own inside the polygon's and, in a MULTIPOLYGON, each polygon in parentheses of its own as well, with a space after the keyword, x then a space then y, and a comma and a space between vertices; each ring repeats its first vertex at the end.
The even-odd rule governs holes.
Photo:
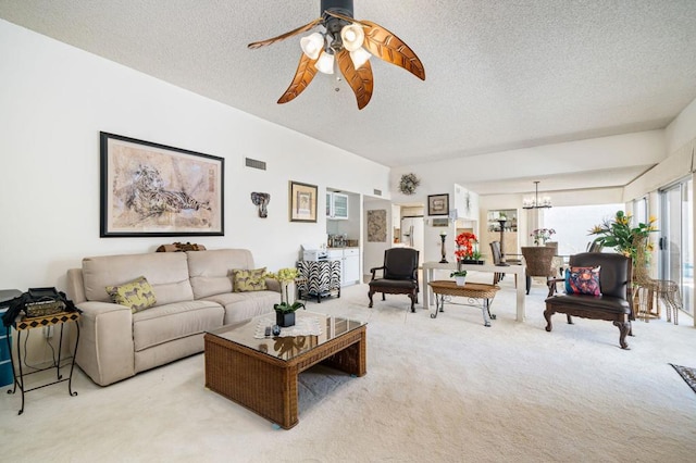
POLYGON ((676 281, 684 311, 694 316, 694 220, 692 179, 660 191, 660 279, 676 281))

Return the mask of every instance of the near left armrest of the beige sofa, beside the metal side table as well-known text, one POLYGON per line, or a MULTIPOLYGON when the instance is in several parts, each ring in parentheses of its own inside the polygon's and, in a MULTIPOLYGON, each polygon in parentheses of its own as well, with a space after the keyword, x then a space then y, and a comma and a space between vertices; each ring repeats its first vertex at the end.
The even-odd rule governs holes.
POLYGON ((83 311, 76 355, 79 367, 100 386, 135 375, 130 308, 98 301, 77 308, 83 311))

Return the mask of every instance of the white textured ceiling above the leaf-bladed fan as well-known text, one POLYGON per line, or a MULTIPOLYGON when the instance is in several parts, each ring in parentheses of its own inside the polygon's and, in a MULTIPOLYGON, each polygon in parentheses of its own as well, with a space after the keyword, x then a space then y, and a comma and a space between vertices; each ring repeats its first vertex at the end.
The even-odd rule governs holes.
MULTIPOLYGON (((246 46, 319 10, 320 0, 0 0, 7 21, 388 166, 663 128, 696 98, 694 0, 355 0, 357 18, 418 53, 426 80, 373 58, 364 110, 321 74, 278 105, 298 38, 246 46)), ((626 165, 607 184, 645 168, 626 165)))

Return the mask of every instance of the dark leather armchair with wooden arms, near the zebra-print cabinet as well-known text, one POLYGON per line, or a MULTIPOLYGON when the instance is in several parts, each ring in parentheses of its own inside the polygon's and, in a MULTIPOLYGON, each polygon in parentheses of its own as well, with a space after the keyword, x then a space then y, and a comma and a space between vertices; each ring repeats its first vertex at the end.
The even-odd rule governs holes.
POLYGON ((384 251, 384 265, 371 268, 370 280, 370 308, 372 308, 372 295, 408 295, 411 298, 411 312, 415 312, 418 303, 418 254, 412 248, 391 248, 384 251), (382 278, 376 278, 375 273, 382 271, 382 278))

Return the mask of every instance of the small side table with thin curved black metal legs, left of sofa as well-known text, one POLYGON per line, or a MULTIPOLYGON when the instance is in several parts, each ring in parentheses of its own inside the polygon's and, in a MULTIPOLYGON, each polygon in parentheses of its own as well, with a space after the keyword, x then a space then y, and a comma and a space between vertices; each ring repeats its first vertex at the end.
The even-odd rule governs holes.
POLYGON ((24 395, 26 392, 36 390, 36 389, 41 389, 44 387, 47 386, 52 386, 54 384, 59 384, 59 383, 63 383, 63 381, 67 381, 67 392, 71 396, 77 396, 77 392, 73 391, 73 371, 75 368, 75 355, 77 354, 77 345, 79 343, 79 324, 77 323, 77 321, 79 320, 79 312, 59 312, 52 315, 47 315, 47 316, 37 316, 37 317, 32 317, 32 318, 26 318, 26 317, 21 317, 17 318, 14 324, 12 325, 14 327, 14 329, 16 329, 17 331, 17 368, 15 370, 15 365, 14 365, 14 356, 12 355, 12 342, 10 340, 10 327, 8 326, 7 330, 8 330, 8 349, 10 350, 10 360, 12 361, 12 372, 14 373, 14 387, 12 389, 8 390, 8 393, 15 393, 17 391, 17 389, 20 389, 20 391, 22 392, 22 408, 20 409, 20 412, 17 413, 18 415, 21 415, 22 413, 24 413, 24 395), (70 375, 64 378, 63 375, 61 375, 61 351, 62 351, 62 347, 63 347, 63 327, 65 326, 66 323, 69 322, 74 322, 75 323, 75 329, 76 329, 76 337, 75 337, 75 349, 73 350, 73 358, 71 360, 70 363, 70 375), (38 370, 34 370, 33 372, 29 373, 24 373, 23 368, 22 368, 22 334, 24 331, 27 331, 26 335, 28 336, 28 330, 29 329, 34 329, 34 328, 42 328, 44 326, 54 326, 54 325, 60 325, 61 327, 61 335, 60 335, 60 339, 58 341, 58 360, 53 359, 53 362, 51 365, 46 366, 44 368, 38 368, 38 370), (44 372, 46 370, 51 370, 51 368, 55 368, 55 380, 52 383, 48 383, 41 386, 36 386, 33 387, 30 389, 26 389, 26 386, 24 384, 24 379, 26 376, 28 375, 33 375, 35 373, 39 373, 39 372, 44 372), (17 375, 16 372, 20 372, 20 374, 17 375))

